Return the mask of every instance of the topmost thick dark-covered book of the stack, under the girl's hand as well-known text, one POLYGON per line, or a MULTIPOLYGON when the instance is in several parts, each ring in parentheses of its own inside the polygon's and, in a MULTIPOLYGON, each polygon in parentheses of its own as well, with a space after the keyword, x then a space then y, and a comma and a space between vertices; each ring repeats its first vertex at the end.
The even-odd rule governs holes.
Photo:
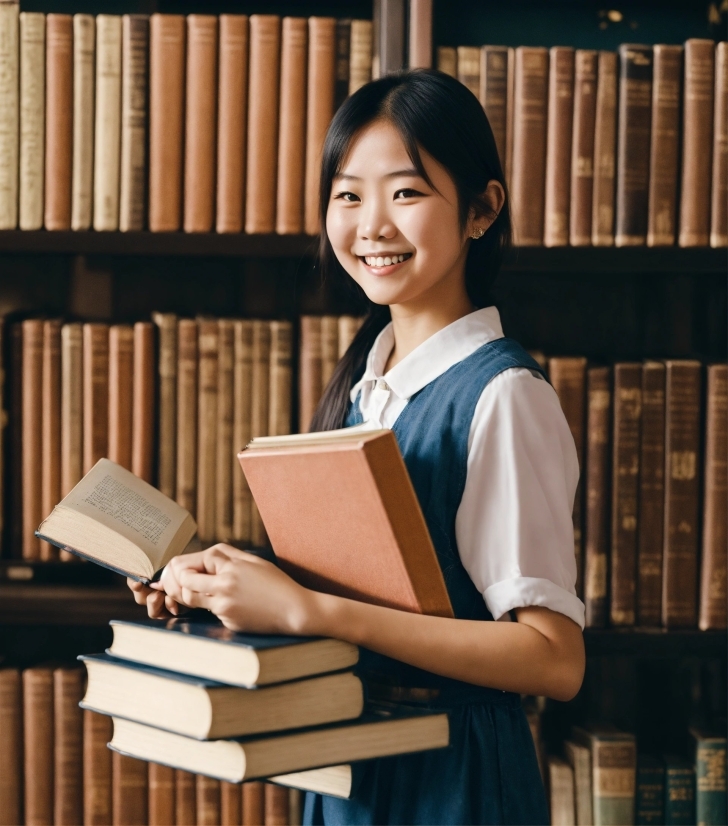
POLYGON ((114 657, 243 688, 350 668, 359 658, 340 640, 240 634, 210 620, 112 620, 111 628, 114 657))

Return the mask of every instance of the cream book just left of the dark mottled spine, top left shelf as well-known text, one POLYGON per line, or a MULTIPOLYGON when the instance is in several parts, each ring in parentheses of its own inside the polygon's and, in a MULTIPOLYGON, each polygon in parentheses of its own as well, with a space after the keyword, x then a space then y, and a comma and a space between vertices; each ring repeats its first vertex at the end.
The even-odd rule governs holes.
POLYGON ((96 16, 94 217, 97 231, 119 229, 121 17, 96 16))

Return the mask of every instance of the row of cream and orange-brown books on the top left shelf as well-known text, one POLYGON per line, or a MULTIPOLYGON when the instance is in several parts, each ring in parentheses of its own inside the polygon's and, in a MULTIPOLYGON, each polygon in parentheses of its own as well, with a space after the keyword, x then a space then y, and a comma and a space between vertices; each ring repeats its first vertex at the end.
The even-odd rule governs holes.
POLYGON ((0 4, 0 229, 318 232, 371 21, 0 4))

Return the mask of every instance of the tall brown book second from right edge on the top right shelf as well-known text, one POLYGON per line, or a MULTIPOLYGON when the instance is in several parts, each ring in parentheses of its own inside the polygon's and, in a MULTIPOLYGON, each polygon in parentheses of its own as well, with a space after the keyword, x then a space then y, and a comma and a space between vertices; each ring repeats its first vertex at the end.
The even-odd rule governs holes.
POLYGON ((715 43, 686 40, 678 236, 681 247, 707 247, 710 241, 714 84, 715 43))

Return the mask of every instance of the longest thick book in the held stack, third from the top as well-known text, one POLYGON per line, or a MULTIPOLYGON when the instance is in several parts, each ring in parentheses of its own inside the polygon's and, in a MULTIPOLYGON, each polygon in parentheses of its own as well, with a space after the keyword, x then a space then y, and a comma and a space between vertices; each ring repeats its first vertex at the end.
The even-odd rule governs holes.
POLYGON ((445 712, 403 708, 302 731, 206 742, 117 717, 113 720, 109 746, 115 751, 232 783, 449 745, 445 712))

